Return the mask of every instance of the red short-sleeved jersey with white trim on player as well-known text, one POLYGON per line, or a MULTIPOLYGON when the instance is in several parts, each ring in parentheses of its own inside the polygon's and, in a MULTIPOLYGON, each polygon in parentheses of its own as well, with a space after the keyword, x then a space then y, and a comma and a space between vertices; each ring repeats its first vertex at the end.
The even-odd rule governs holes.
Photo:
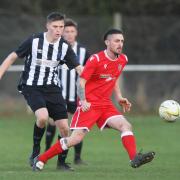
POLYGON ((128 59, 121 54, 115 60, 107 56, 107 52, 101 51, 92 55, 81 74, 87 80, 85 86, 86 100, 92 106, 103 106, 111 103, 111 95, 116 80, 120 76, 128 59))

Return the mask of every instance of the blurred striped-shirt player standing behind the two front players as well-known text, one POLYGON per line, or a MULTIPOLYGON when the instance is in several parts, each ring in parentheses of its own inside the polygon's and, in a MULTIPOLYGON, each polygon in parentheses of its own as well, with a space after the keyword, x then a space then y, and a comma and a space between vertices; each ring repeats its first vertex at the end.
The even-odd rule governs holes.
MULTIPOLYGON (((77 42, 77 35, 78 35, 78 25, 72 19, 65 20, 64 32, 63 37, 64 39, 71 45, 72 49, 74 50, 75 54, 78 57, 79 63, 84 66, 86 60, 89 58, 89 53, 84 46, 82 46, 79 42, 77 42)), ((62 85, 62 94, 64 99, 67 103, 67 111, 70 115, 74 114, 77 107, 77 87, 76 81, 78 74, 75 72, 74 69, 69 70, 67 69, 66 65, 60 67, 59 77, 61 79, 62 85)), ((51 146, 52 140, 55 135, 56 127, 54 123, 50 121, 47 126, 46 131, 46 150, 49 149, 51 146)), ((61 137, 58 137, 59 139, 61 137)), ((85 164, 84 161, 81 159, 81 151, 82 151, 83 142, 80 142, 74 147, 74 163, 76 165, 85 164)), ((67 164, 65 163, 65 159, 67 157, 67 151, 64 151, 63 154, 58 156, 58 163, 57 168, 62 170, 72 170, 69 169, 67 164)))

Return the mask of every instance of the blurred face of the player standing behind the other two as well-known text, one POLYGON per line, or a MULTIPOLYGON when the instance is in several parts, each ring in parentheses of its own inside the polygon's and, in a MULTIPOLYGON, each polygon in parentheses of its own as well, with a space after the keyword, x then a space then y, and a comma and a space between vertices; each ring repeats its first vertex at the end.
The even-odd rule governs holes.
POLYGON ((74 26, 66 26, 64 28, 63 37, 68 43, 74 44, 77 37, 77 29, 74 26))

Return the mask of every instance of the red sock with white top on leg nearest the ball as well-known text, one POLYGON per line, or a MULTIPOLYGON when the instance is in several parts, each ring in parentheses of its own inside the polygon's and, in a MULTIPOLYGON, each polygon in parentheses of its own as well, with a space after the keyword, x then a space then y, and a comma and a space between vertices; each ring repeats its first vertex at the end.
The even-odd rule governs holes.
POLYGON ((130 160, 136 156, 136 140, 132 132, 124 132, 121 135, 122 144, 128 152, 130 160))

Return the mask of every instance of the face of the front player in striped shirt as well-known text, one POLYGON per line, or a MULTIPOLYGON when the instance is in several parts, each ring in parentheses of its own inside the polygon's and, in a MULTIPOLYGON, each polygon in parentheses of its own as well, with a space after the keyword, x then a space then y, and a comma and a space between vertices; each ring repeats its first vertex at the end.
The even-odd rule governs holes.
POLYGON ((48 30, 47 33, 51 40, 56 41, 59 37, 62 36, 64 30, 64 20, 48 22, 46 27, 48 30))

